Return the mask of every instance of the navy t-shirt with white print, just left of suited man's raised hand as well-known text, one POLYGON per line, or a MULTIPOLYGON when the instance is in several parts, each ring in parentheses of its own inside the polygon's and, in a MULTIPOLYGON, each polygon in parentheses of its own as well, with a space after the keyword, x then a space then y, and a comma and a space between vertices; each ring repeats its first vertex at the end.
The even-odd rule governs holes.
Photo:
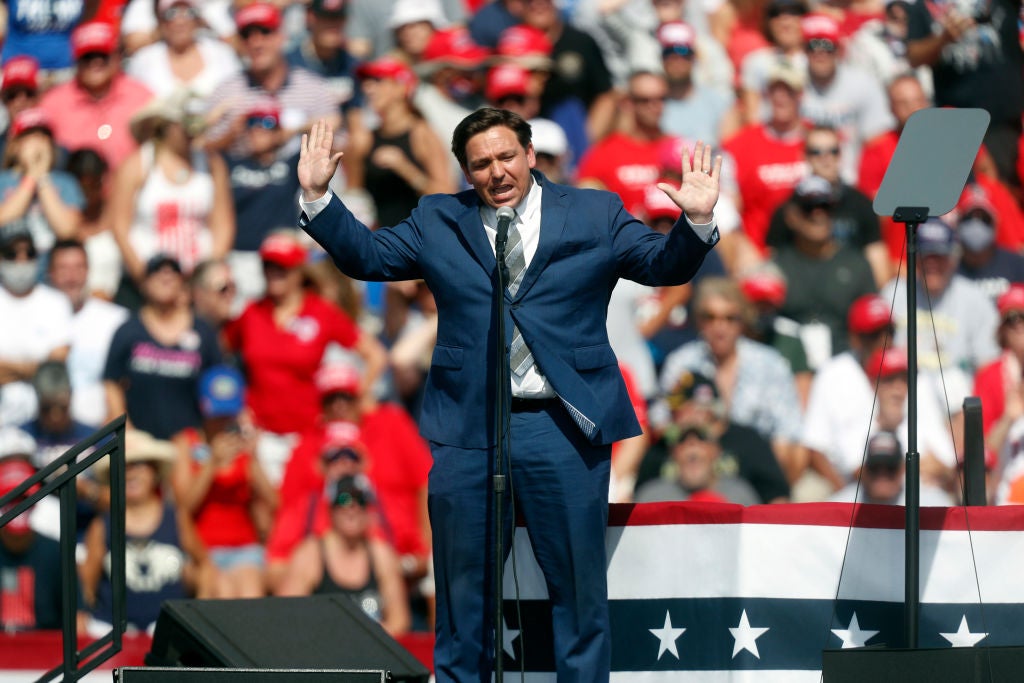
POLYGON ((251 157, 228 157, 234 201, 236 251, 259 251, 271 230, 291 227, 298 220, 299 155, 263 166, 251 157))

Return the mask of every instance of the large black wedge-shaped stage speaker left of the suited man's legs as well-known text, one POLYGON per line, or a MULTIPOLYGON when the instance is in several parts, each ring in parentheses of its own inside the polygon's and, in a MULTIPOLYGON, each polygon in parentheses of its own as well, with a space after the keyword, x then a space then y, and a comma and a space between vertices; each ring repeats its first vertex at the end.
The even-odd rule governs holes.
POLYGON ((426 683, 430 672, 344 595, 168 600, 148 667, 385 671, 426 683))

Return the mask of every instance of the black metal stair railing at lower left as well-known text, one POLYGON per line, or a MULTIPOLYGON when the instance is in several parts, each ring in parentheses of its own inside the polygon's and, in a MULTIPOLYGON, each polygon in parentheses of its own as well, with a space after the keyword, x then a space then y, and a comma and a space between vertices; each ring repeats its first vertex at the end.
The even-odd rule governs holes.
POLYGON ((53 492, 60 497, 60 593, 61 634, 63 637, 63 663, 43 674, 39 679, 78 681, 103 661, 121 651, 125 618, 125 416, 93 433, 92 436, 72 446, 62 456, 19 483, 13 490, 0 498, 0 509, 18 501, 10 510, 0 515, 0 527, 26 512, 33 505, 53 492), (82 455, 86 454, 86 455, 82 455), (75 480, 79 474, 95 465, 100 459, 111 458, 111 585, 113 587, 113 627, 105 636, 78 649, 78 568, 75 564, 77 541, 76 508, 78 492, 75 480), (28 490, 36 485, 39 490, 31 496, 28 490))

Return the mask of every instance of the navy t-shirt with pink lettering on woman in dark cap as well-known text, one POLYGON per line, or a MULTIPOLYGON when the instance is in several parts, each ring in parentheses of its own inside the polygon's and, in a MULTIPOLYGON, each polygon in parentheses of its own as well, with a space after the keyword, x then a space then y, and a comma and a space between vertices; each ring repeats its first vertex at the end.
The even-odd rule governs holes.
POLYGON ((165 346, 135 313, 114 333, 103 380, 124 388, 135 427, 168 439, 201 425, 199 376, 218 362, 217 337, 203 321, 197 318, 176 344, 165 346))

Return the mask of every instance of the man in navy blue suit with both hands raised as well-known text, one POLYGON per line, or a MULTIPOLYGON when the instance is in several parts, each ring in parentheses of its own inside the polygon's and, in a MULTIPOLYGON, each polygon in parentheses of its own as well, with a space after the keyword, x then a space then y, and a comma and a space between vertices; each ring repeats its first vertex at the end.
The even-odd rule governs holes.
MULTIPOLYGON (((620 278, 667 286, 693 275, 718 242, 713 209, 721 158, 713 164, 710 147, 698 143, 692 162, 684 151, 680 186, 658 185, 683 210, 665 236, 629 215, 611 193, 566 187, 534 171, 529 125, 511 112, 482 109, 463 120, 452 141, 473 189, 425 197, 406 220, 371 231, 328 190, 341 160, 333 139, 323 122, 302 137, 300 225, 348 275, 422 278, 437 302, 420 419, 434 458, 437 681, 490 680, 492 416, 499 388, 511 404, 506 473, 547 582, 558 680, 607 681, 610 444, 640 433, 608 345, 608 297, 620 278), (505 292, 505 346, 513 360, 509 386, 496 387, 501 207, 515 210, 505 292), (525 262, 518 278, 517 257, 525 262)), ((504 521, 511 530, 511 514, 504 521)))

